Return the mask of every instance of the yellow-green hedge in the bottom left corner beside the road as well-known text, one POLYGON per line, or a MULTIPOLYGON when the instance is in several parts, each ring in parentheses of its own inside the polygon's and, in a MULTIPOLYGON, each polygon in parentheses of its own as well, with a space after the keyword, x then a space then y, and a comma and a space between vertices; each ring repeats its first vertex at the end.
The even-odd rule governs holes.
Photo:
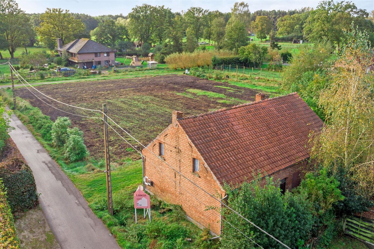
POLYGON ((6 200, 4 185, 0 179, 0 248, 19 249, 13 215, 6 200))

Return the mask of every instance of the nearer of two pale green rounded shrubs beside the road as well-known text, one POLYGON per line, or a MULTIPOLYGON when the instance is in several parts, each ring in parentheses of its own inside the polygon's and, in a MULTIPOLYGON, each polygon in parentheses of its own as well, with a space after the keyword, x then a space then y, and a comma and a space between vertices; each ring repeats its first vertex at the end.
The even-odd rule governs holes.
POLYGON ((70 162, 79 161, 89 155, 87 147, 83 141, 83 131, 80 131, 77 127, 73 129, 67 129, 68 139, 64 146, 65 158, 69 159, 70 162))

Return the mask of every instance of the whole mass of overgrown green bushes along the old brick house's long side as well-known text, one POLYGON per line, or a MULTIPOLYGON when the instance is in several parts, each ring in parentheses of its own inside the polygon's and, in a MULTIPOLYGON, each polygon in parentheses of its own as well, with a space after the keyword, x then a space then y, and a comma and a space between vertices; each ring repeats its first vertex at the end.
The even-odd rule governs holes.
MULTIPOLYGON (((313 248, 329 244, 336 231, 327 229, 337 223, 333 205, 344 199, 336 179, 327 177, 326 172, 308 173, 297 189, 284 195, 272 178, 266 178, 265 186, 262 185, 258 178, 243 183, 239 189, 226 186, 229 206, 291 248, 309 248, 316 237, 319 241, 313 248)), ((223 248, 256 248, 253 241, 263 248, 283 248, 229 209, 224 208, 222 214, 227 220, 223 227, 223 248)))

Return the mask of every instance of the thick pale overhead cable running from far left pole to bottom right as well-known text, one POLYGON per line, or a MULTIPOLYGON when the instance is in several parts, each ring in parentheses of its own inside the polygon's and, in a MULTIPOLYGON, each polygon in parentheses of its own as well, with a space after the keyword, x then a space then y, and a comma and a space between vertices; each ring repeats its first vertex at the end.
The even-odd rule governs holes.
MULTIPOLYGON (((10 63, 9 63, 10 66, 12 66, 10 63)), ((13 68, 13 66, 12 66, 13 68)), ((14 68, 13 68, 14 69, 14 68)), ((21 75, 19 75, 28 85, 30 85, 21 75)), ((17 77, 18 78, 18 77, 17 77)), ((19 78, 18 78, 19 79, 19 78)), ((23 84, 23 83, 22 83, 23 84)), ((30 85, 31 87, 33 87, 32 85, 30 85)), ((49 97, 47 96, 46 94, 40 92, 39 90, 37 90, 35 87, 33 87, 36 91, 38 91, 39 93, 43 94, 44 96, 48 97, 49 99, 52 99, 52 100, 55 100, 53 99, 52 97, 49 97)), ((32 93, 32 92, 31 92, 32 93)), ((34 94, 35 95, 35 94, 34 94)), ((35 95, 36 96, 36 95, 35 95)), ((38 97, 39 98, 39 97, 38 97)), ((40 98, 39 98, 40 99, 40 98)), ((43 100, 42 100, 43 101, 43 100)), ((282 243, 280 240, 276 239, 274 236, 272 236, 271 234, 267 233, 265 230, 263 230, 262 228, 258 227, 256 224, 254 224, 252 221, 248 220, 247 218, 245 218, 243 215, 241 215, 239 212, 235 211, 234 209, 230 208, 230 206, 228 206, 226 203, 222 202, 221 200, 217 199, 215 196, 213 196, 211 193, 207 192, 205 189, 203 189, 202 187, 200 187, 199 185, 197 185, 196 183, 194 183, 192 180, 190 180, 188 177, 186 177, 185 175, 183 175, 180 171, 178 171, 177 169, 175 169, 172 165, 168 164, 167 162, 163 161, 161 158, 159 158, 156 154, 154 154, 150 149, 148 149, 146 146, 144 146, 140 141, 138 141, 135 137, 133 137, 130 133, 128 133, 126 130, 124 130, 120 125, 118 125, 113 119, 111 119, 106 113, 102 112, 102 111, 99 111, 99 110, 93 110, 93 109, 87 109, 87 108, 82 108, 82 107, 78 107, 78 106, 73 106, 73 105, 69 105, 69 104, 66 104, 66 103, 63 103, 63 102, 60 102, 58 100, 55 100, 56 102, 59 102, 61 104, 64 104, 64 105, 67 105, 67 106, 71 106, 71 107, 74 107, 74 108, 79 108, 79 109, 85 109, 85 110, 88 110, 88 111, 96 111, 96 112, 100 112, 102 113, 103 115, 105 115, 111 122, 113 122, 113 124, 117 125, 117 127, 119 127, 122 131, 124 131, 129 137, 131 137, 134 141, 136 141, 137 143, 139 143, 142 147, 144 147, 144 149, 148 150, 152 155, 154 155, 156 158, 158 158, 161 162, 165 163, 166 165, 168 165, 169 168, 171 168, 172 170, 174 170, 175 172, 177 172, 179 175, 181 175, 183 178, 185 178, 187 181, 189 181, 191 184, 193 184, 194 186, 196 186, 197 188, 199 188, 200 190, 202 190, 203 192, 205 192, 206 194, 208 194, 210 197, 212 197, 213 199, 217 200, 218 202, 220 202, 222 205, 224 205, 226 208, 228 208, 230 211, 234 212, 236 215, 238 215, 239 217, 243 218, 245 221, 247 221, 249 224, 253 225, 254 227, 256 227, 258 230, 262 231, 263 233, 267 234, 269 237, 271 237, 272 239, 274 239, 275 241, 277 241, 278 243, 280 243, 281 245, 283 245, 285 248, 288 248, 288 249, 291 249, 289 248, 289 246, 285 245, 284 243, 282 243)), ((44 101, 43 101, 44 102, 44 101)), ((46 103, 46 102, 45 102, 46 103)), ((48 104, 49 105, 49 104, 48 104)), ((57 109, 57 108, 56 108, 57 109)), ((62 110, 60 110, 62 111, 62 110)), ((70 113, 70 114, 73 114, 73 113, 70 113)), ((73 115, 76 115, 76 114, 73 114, 73 115)), ((79 115, 78 115, 79 116, 79 115)), ((114 129, 113 129, 114 130, 114 129)), ((115 131, 115 130, 114 130, 115 131)), ((116 132, 117 133, 117 132, 116 132)), ((119 133, 117 133, 119 134, 119 133)), ((122 137, 122 136, 121 136, 122 137)), ((123 137, 122 137, 123 138, 123 137)), ((124 139, 124 138, 123 138, 124 139)), ((126 141, 126 140, 125 140, 126 141)), ((131 144, 130 144, 131 145, 131 144)), ((134 148, 134 147, 133 147, 134 148)), ((137 150, 138 151, 138 150, 137 150)), ((141 152, 138 151, 138 153, 141 154, 141 152)))

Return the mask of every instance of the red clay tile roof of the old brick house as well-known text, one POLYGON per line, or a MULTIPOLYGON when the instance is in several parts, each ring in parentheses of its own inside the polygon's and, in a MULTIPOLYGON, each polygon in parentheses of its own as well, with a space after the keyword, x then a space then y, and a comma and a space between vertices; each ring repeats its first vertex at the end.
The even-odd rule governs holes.
POLYGON ((272 174, 309 158, 308 135, 323 125, 297 93, 178 122, 221 184, 242 183, 254 171, 272 174))

